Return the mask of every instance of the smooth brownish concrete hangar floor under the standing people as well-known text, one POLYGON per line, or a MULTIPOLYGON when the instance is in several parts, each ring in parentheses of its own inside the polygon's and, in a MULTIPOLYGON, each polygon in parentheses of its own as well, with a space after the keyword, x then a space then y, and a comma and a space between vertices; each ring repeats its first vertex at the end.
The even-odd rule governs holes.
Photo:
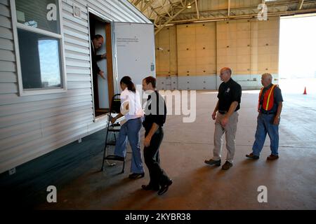
MULTIPOLYGON (((182 123, 169 116, 160 155, 173 185, 162 196, 141 190, 143 179, 129 180, 121 165, 99 172, 102 155, 93 169, 58 189, 58 203, 37 209, 316 209, 316 95, 284 94, 279 126, 279 160, 268 162, 267 138, 260 160, 248 160, 256 130, 258 91, 244 91, 239 111, 234 166, 223 171, 204 165, 213 149, 211 111, 216 92, 197 92, 197 119, 182 123), (258 203, 258 186, 268 188, 268 203, 258 203)), ((143 147, 142 147, 143 149, 143 147)), ((226 149, 223 148, 223 158, 226 149)))

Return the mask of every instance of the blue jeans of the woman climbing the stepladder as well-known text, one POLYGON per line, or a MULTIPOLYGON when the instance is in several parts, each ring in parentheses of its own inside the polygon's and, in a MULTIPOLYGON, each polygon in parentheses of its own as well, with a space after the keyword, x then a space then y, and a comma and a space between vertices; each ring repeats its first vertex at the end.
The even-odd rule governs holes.
POLYGON ((129 139, 129 144, 132 149, 132 159, 131 159, 131 172, 140 174, 144 172, 142 154, 140 151, 140 137, 139 131, 142 127, 142 118, 136 118, 132 120, 127 120, 124 125, 121 125, 121 130, 119 131, 119 138, 117 139, 117 144, 115 145, 114 155, 121 157, 126 156, 126 146, 127 139, 129 139))

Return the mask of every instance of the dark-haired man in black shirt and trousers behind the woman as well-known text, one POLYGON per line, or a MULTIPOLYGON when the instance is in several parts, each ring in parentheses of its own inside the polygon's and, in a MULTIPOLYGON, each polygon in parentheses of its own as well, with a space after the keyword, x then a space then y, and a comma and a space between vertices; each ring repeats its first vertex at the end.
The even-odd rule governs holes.
POLYGON ((150 183, 143 185, 144 190, 157 190, 158 195, 166 193, 172 181, 160 167, 159 147, 164 138, 162 126, 166 121, 166 104, 156 90, 156 78, 149 76, 143 80, 143 90, 149 94, 146 107, 144 139, 144 160, 150 173, 150 183))

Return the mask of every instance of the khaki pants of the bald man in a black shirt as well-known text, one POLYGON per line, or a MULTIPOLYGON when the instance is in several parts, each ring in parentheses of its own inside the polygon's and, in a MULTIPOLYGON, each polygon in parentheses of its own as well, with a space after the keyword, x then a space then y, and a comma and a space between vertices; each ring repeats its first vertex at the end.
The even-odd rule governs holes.
POLYGON ((227 156, 226 160, 232 163, 235 155, 235 136, 237 131, 238 113, 232 113, 232 116, 228 119, 228 124, 225 127, 220 125, 224 114, 217 113, 215 120, 215 132, 214 132, 214 150, 213 160, 220 160, 222 154, 223 134, 225 132, 227 156))

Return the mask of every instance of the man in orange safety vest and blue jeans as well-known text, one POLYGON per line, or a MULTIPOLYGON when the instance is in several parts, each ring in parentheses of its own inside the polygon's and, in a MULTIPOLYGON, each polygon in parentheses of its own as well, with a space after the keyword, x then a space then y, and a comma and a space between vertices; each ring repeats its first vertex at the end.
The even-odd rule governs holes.
POLYGON ((279 120, 282 111, 282 94, 277 85, 272 84, 270 73, 261 76, 261 88, 258 99, 257 130, 252 146, 252 153, 246 155, 247 158, 258 160, 267 133, 270 137, 271 155, 267 160, 277 160, 279 158, 279 120))

